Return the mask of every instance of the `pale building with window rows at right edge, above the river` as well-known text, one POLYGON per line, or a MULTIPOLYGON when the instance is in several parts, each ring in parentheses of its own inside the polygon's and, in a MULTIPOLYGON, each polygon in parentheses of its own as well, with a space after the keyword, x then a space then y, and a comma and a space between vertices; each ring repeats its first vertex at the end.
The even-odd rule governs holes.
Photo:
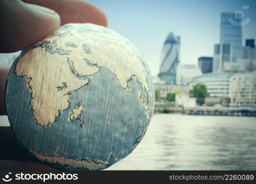
POLYGON ((256 72, 234 74, 229 79, 230 106, 256 107, 256 72))

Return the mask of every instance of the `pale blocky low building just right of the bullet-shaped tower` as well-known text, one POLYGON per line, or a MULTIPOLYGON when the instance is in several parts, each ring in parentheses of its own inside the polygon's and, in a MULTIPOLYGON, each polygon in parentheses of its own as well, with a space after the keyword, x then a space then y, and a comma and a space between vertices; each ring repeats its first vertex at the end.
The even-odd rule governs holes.
POLYGON ((187 85, 193 77, 202 75, 200 68, 195 64, 181 64, 177 66, 176 84, 187 85))

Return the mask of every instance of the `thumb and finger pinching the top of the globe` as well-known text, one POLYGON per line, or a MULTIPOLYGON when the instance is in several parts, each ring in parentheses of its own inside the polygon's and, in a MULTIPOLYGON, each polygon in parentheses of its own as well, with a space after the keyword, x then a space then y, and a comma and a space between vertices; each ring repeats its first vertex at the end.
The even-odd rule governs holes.
POLYGON ((66 23, 107 26, 107 18, 98 7, 80 0, 1 0, 0 52, 23 50, 66 23))

